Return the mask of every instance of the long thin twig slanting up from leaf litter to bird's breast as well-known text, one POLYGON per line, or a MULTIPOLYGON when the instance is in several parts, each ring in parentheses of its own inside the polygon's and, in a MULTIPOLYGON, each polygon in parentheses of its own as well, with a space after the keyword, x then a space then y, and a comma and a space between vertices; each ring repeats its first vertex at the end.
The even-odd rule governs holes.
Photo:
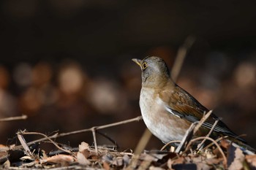
MULTIPOLYGON (((87 131, 92 131, 93 128, 95 128, 95 130, 102 129, 102 128, 110 128, 112 126, 123 125, 123 124, 126 124, 126 123, 139 121, 141 119, 142 119, 142 117, 138 116, 138 117, 135 117, 135 118, 132 118, 132 119, 129 119, 129 120, 123 120, 123 121, 116 122, 116 123, 110 123, 108 125, 95 126, 95 127, 92 127, 92 128, 86 128, 86 129, 82 129, 82 130, 79 130, 79 131, 70 131, 70 132, 67 132, 67 133, 53 134, 52 136, 44 135, 45 136, 44 138, 28 142, 27 144, 30 145, 30 144, 34 144, 34 143, 37 143, 37 142, 42 142, 42 141, 45 141, 45 140, 48 140, 48 139, 56 139, 56 138, 59 138, 59 137, 69 136, 69 135, 72 135, 72 134, 80 134, 80 133, 84 133, 84 132, 87 132, 87 131)), ((29 133, 29 132, 26 132, 26 133, 29 133)), ((16 146, 13 149, 20 149, 20 148, 22 148, 21 145, 16 146)))

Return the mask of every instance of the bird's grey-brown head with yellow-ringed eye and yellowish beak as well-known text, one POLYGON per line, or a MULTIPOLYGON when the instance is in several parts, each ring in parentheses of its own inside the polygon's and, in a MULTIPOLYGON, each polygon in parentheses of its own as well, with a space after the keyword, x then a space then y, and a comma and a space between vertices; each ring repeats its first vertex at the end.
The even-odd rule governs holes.
POLYGON ((162 58, 150 56, 143 60, 134 58, 132 61, 140 66, 142 84, 145 86, 156 87, 170 79, 169 69, 162 58))

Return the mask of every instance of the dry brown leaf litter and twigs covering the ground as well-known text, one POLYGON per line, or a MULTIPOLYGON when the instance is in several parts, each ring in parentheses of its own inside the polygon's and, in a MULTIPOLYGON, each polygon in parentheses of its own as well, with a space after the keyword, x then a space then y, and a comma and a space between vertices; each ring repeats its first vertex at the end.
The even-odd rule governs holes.
MULTIPOLYGON (((133 119, 138 120, 138 117, 133 119)), ((131 122, 125 120, 125 123, 131 122)), ((124 122, 123 122, 124 123, 124 122)), ((111 123, 103 125, 110 127, 123 123, 111 123)), ((95 134, 97 126, 89 128, 95 134)), ((82 130, 82 131, 88 131, 82 130)), ((79 131, 80 132, 80 131, 79 131)), ((191 129, 188 136, 195 132, 191 129)), ((75 134, 74 132, 66 133, 75 134)), ((19 131, 19 146, 5 146, 0 144, 0 168, 1 169, 256 169, 256 155, 244 152, 243 148, 236 147, 225 137, 211 139, 208 136, 196 139, 186 138, 182 141, 182 147, 173 150, 165 145, 162 150, 144 150, 140 154, 120 152, 113 147, 101 147, 81 142, 78 148, 56 144, 53 139, 63 134, 46 136, 37 132, 19 131), (26 142, 25 135, 42 135, 43 138, 34 142, 26 142), (202 141, 210 141, 208 146, 202 145, 202 141), (45 152, 40 142, 48 141, 56 147, 55 151, 45 152), (201 143, 200 143, 201 142, 201 143), (197 146, 195 146, 197 144, 197 146), (203 148, 202 148, 203 146, 203 148), (197 148, 197 149, 195 149, 197 148)), ((181 142, 177 142, 181 143, 181 142)))

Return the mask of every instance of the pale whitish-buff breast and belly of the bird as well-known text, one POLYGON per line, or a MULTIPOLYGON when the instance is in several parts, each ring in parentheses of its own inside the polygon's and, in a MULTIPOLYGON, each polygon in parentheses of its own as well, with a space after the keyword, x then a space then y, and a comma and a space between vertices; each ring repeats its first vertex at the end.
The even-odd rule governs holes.
POLYGON ((162 142, 181 140, 189 128, 187 120, 176 117, 165 109, 158 96, 154 92, 141 90, 140 111, 143 120, 152 134, 157 136, 162 142))

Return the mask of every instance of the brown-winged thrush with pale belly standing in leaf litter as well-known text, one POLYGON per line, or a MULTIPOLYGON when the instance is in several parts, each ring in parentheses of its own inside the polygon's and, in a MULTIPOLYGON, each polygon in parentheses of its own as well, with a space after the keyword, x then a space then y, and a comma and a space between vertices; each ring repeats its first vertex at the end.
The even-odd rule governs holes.
MULTIPOLYGON (((170 71, 162 58, 148 56, 143 60, 133 58, 141 69, 140 112, 143 121, 154 136, 168 143, 183 139, 187 129, 209 110, 196 98, 173 82, 170 71)), ((239 142, 246 141, 235 134, 213 113, 201 125, 195 136, 206 136, 215 121, 211 137, 229 136, 239 142)))

